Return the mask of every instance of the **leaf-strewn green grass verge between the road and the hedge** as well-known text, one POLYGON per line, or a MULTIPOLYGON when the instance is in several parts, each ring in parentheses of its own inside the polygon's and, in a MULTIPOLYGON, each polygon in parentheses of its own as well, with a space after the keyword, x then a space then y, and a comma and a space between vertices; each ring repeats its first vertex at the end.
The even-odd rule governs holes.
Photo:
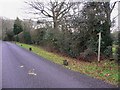
POLYGON ((96 64, 95 62, 89 63, 84 61, 78 61, 70 57, 64 57, 55 53, 51 53, 35 45, 28 45, 23 43, 17 44, 20 46, 22 45, 21 47, 26 48, 28 50, 31 47, 32 52, 60 65, 63 65, 63 60, 66 59, 68 60, 69 65, 64 67, 71 69, 73 71, 87 74, 88 76, 97 79, 104 80, 110 84, 118 85, 118 78, 120 73, 118 72, 118 65, 114 61, 110 62, 106 60, 101 61, 99 64, 96 64))

